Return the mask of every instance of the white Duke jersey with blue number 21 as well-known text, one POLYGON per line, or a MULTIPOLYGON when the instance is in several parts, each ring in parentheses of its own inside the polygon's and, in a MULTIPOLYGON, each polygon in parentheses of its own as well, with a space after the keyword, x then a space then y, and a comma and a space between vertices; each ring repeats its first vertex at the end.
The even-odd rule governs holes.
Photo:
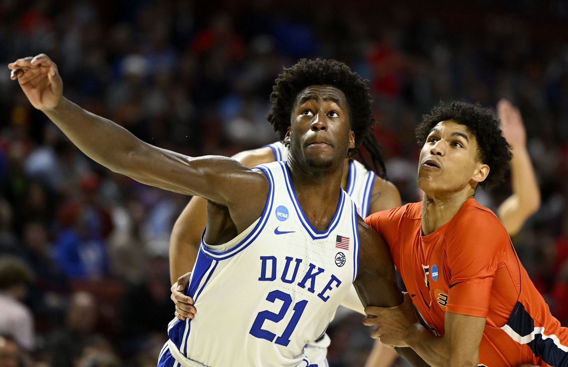
POLYGON ((256 168, 270 182, 264 212, 228 243, 202 238, 187 291, 198 312, 170 322, 170 349, 210 367, 308 366, 304 345, 324 334, 357 276, 356 206, 341 190, 328 229, 318 231, 286 162, 256 168))

